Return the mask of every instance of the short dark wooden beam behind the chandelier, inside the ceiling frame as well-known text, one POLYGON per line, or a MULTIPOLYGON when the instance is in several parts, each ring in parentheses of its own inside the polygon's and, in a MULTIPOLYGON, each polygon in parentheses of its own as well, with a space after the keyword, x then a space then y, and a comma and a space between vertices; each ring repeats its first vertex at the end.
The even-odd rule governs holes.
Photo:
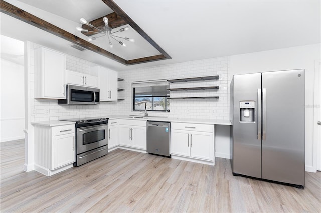
MULTIPOLYGON (((108 18, 108 25, 110 28, 117 28, 117 27, 120 27, 120 26, 123 26, 123 25, 126 25, 126 21, 124 19, 122 19, 119 15, 117 15, 115 12, 113 13, 110 13, 108 15, 105 15, 105 16, 102 16, 100 18, 97 18, 96 20, 93 20, 93 21, 90 21, 89 23, 95 27, 97 27, 98 29, 101 29, 103 30, 104 26, 105 26, 105 23, 103 21, 103 18, 104 17, 107 17, 108 18)), ((97 29, 92 29, 90 28, 89 26, 87 26, 86 24, 83 24, 81 26, 81 28, 83 29, 87 29, 87 30, 90 30, 90 31, 98 31, 97 29)), ((94 35, 95 33, 92 33, 92 32, 81 32, 83 33, 84 35, 86 36, 91 36, 91 35, 94 35)))

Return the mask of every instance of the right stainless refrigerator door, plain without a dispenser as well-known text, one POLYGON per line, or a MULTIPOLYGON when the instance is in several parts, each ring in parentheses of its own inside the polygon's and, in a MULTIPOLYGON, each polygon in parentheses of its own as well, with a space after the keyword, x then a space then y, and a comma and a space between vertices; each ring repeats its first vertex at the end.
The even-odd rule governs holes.
POLYGON ((304 185, 304 69, 262 73, 262 179, 304 185))

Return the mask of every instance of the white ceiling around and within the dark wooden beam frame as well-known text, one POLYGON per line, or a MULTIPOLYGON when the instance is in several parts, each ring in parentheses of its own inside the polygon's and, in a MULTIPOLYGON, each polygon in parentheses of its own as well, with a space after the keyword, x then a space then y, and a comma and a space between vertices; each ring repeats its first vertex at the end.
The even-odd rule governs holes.
MULTIPOLYGON (((92 17, 97 18, 104 13, 101 6, 96 5, 100 5, 100 0, 39 0, 28 1, 28 4, 22 4, 24 0, 6 1, 18 7, 36 6, 39 9, 37 16, 47 18, 46 21, 60 28, 65 27, 66 31, 74 30, 79 15, 90 21, 92 17), (66 9, 62 2, 68 2, 74 9, 66 9), (49 17, 48 12, 54 15, 49 17), (72 29, 68 28, 71 26, 72 29)), ((30 40, 119 71, 321 42, 320 1, 316 0, 114 1, 172 59, 125 66, 88 50, 79 52, 72 49, 70 42, 3 13, 0 16, 0 33, 23 41, 30 40)), ((36 9, 32 7, 32 10, 36 9)), ((137 48, 127 46, 121 51, 139 51, 137 48)))

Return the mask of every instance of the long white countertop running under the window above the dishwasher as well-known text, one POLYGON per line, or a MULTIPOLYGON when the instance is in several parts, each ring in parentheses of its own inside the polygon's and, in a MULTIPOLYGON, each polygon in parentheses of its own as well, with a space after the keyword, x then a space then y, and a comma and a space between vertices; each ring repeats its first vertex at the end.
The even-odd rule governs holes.
MULTIPOLYGON (((135 116, 135 115, 134 115, 135 116)), ((139 117, 137 115, 137 117, 139 117)), ((175 117, 156 117, 148 116, 144 118, 132 118, 131 116, 113 115, 109 116, 110 120, 113 119, 133 119, 133 120, 152 120, 152 121, 165 121, 165 122, 181 122, 181 123, 199 123, 211 125, 232 125, 230 120, 211 120, 211 119, 192 119, 192 118, 175 118, 175 117)))

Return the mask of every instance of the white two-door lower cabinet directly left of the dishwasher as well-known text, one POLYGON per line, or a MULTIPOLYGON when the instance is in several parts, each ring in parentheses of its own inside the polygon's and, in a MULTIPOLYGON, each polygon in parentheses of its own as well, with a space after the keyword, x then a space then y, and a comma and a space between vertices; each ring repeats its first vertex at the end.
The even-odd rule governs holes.
POLYGON ((146 121, 119 120, 119 145, 146 150, 146 121))

